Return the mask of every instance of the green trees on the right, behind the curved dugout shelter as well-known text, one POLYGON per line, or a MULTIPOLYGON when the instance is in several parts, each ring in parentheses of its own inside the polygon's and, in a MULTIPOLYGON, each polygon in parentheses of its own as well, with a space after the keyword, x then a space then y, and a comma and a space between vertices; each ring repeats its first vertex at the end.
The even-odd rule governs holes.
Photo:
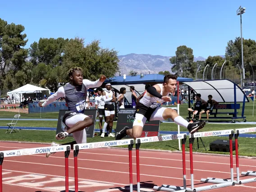
MULTIPOLYGON (((217 63, 213 70, 213 78, 220 78, 220 69, 222 64, 222 79, 236 80, 239 82, 240 69, 242 70, 242 50, 241 50, 241 38, 236 37, 235 40, 230 40, 225 48, 225 56, 209 56, 205 61, 194 61, 193 50, 187 46, 178 46, 175 52, 175 56, 171 57, 170 63, 173 64, 171 72, 176 73, 180 77, 185 78, 205 78, 211 79, 211 71, 214 65, 217 63), (199 66, 201 67, 199 68, 199 66), (203 71, 205 71, 205 77, 203 77, 203 71), (198 73, 197 73, 197 69, 198 73)), ((253 81, 253 73, 256 69, 256 41, 251 39, 243 39, 243 60, 245 68, 245 78, 248 81, 253 81), (251 64, 251 65, 250 65, 251 64), (252 67, 252 69, 251 69, 252 67)), ((168 74, 169 71, 160 71, 159 74, 168 74)))

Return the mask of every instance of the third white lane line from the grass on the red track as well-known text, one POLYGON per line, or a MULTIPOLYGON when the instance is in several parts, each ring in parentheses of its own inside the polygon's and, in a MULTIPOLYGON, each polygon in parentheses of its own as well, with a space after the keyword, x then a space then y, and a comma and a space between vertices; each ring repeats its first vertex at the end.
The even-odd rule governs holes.
MULTIPOLYGON (((23 161, 14 161, 14 160, 5 160, 5 161, 16 162, 16 163, 26 163, 26 164, 36 164, 36 165, 48 165, 48 166, 55 166, 55 167, 65 167, 65 165, 52 165, 52 164, 32 163, 32 162, 23 162, 23 161)), ((69 168, 74 168, 74 167, 69 166, 69 168)), ((88 169, 88 170, 94 170, 94 171, 105 171, 105 172, 120 173, 120 174, 130 174, 129 172, 111 171, 111 170, 105 170, 105 169, 92 169, 92 168, 85 168, 85 167, 78 167, 78 169, 88 169)), ((136 174, 136 173, 133 173, 133 174, 136 174)), ((140 174, 140 175, 145 175, 145 176, 150 176, 150 177, 160 177, 160 178, 174 178, 174 179, 183 180, 183 178, 167 177, 167 176, 160 176, 160 175, 148 175, 148 174, 140 174)), ((188 179, 188 180, 190 180, 190 179, 188 179)), ((200 180, 194 180, 194 181, 200 181, 200 180)))

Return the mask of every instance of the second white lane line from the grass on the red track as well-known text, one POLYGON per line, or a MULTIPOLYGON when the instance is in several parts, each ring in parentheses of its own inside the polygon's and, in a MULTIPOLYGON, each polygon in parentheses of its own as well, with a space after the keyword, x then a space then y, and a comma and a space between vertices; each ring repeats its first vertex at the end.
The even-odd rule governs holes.
MULTIPOLYGON (((33 155, 33 156, 45 156, 45 155, 33 155)), ((51 158, 64 158, 64 157, 55 157, 51 156, 51 158)), ((125 162, 116 162, 116 161, 105 161, 105 160, 88 160, 88 159, 78 159, 80 160, 87 160, 87 161, 98 161, 103 163, 119 163, 119 164, 129 164, 125 162)), ((137 165, 133 163, 133 165, 137 165)), ((169 166, 160 166, 160 165, 146 165, 146 164, 140 164, 140 166, 150 166, 150 167, 162 167, 162 168, 170 168, 170 169, 183 169, 181 167, 169 167, 169 166)), ((186 168, 187 170, 190 170, 189 168, 186 168)), ((215 173, 223 173, 223 174, 230 174, 230 172, 222 172, 222 171, 211 171, 211 170, 202 170, 202 169, 193 169, 196 171, 205 171, 205 172, 215 172, 215 173)))

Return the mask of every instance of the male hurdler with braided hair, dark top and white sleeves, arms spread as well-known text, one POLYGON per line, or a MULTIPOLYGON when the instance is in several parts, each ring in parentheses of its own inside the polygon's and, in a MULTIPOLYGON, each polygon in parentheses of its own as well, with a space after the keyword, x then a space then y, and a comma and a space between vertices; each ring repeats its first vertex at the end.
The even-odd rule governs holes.
MULTIPOLYGON (((94 123, 90 117, 84 114, 87 99, 87 89, 100 87, 105 79, 106 77, 101 75, 101 78, 92 82, 90 80, 83 79, 81 68, 72 68, 69 70, 70 82, 62 87, 59 87, 58 91, 51 95, 47 101, 38 104, 40 107, 44 107, 59 97, 65 98, 69 111, 64 114, 63 123, 66 125, 67 131, 58 133, 56 135, 56 139, 64 139, 68 137, 69 134, 73 133, 75 141, 71 143, 65 143, 63 145, 71 145, 73 147, 73 144, 87 142, 87 134, 85 128, 91 126, 94 123)), ((58 144, 52 142, 51 146, 58 146, 58 144)), ((46 157, 49 157, 51 154, 54 153, 47 153, 46 157)))

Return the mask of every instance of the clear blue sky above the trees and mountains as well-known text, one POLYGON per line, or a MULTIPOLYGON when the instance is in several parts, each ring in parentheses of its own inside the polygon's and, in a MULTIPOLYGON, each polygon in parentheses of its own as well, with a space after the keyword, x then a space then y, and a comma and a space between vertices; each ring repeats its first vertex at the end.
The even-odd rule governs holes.
POLYGON ((40 37, 79 36, 119 55, 173 56, 185 45, 207 58, 224 55, 227 42, 240 37, 240 5, 243 37, 256 40, 255 0, 12 0, 1 2, 0 18, 25 26, 26 48, 40 37))

